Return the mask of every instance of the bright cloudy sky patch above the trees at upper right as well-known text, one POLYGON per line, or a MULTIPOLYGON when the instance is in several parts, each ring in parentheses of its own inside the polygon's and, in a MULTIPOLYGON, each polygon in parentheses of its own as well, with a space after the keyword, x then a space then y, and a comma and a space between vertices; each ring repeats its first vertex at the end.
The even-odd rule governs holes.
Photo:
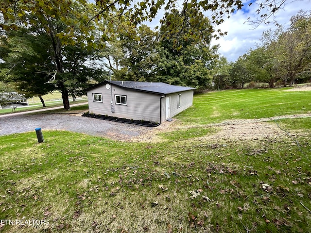
MULTIPOLYGON (((246 22, 248 17, 255 19, 256 15, 256 5, 252 4, 249 7, 249 12, 238 11, 236 14, 231 15, 230 18, 226 18, 225 22, 217 27, 221 29, 222 32, 227 32, 227 35, 219 40, 212 40, 212 44, 219 44, 219 53, 224 55, 228 61, 235 61, 239 56, 243 55, 247 50, 253 48, 256 43, 259 43, 261 34, 272 28, 275 29, 276 26, 271 23, 268 25, 260 24, 257 28, 246 22)), ((304 11, 310 10, 311 1, 310 0, 288 0, 287 5, 284 9, 277 12, 275 20, 284 26, 289 26, 290 18, 297 14, 301 9, 304 11)), ((273 20, 273 18, 271 18, 273 20)))

